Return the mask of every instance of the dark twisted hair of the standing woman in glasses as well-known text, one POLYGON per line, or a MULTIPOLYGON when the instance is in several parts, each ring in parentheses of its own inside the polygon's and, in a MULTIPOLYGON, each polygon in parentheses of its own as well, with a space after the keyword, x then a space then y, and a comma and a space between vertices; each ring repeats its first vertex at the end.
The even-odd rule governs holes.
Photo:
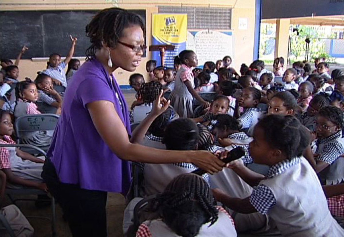
POLYGON ((99 11, 86 25, 86 36, 91 46, 86 50, 86 60, 95 58, 96 51, 104 44, 113 48, 122 37, 123 30, 132 26, 141 27, 146 38, 146 27, 141 17, 133 12, 121 8, 107 8, 99 11))

